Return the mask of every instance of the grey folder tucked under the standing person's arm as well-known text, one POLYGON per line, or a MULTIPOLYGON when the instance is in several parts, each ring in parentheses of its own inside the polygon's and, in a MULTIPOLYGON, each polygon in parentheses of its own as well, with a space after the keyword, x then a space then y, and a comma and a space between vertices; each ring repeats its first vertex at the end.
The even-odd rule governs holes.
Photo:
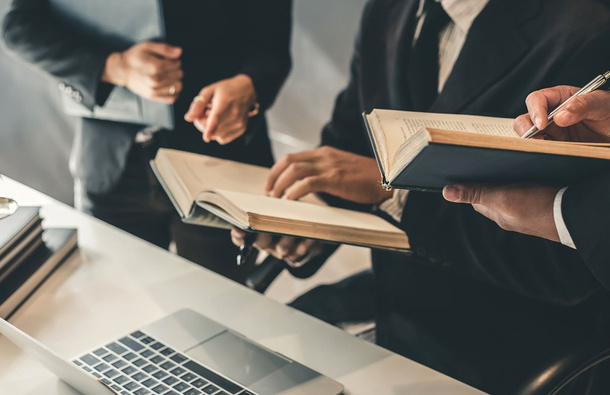
MULTIPOLYGON (((49 0, 63 23, 107 48, 124 50, 142 41, 163 41, 165 22, 161 0, 49 0)), ((173 106, 114 87, 104 106, 93 111, 62 95, 68 115, 173 129, 173 106)))

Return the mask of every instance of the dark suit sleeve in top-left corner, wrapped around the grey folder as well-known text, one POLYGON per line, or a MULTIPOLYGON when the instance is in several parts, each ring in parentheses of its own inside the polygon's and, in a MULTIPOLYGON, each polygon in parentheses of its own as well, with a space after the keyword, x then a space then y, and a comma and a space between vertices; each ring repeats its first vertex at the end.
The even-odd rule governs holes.
POLYGON ((103 104, 101 75, 111 49, 61 23, 47 0, 12 0, 2 37, 9 52, 69 86, 87 108, 103 104))

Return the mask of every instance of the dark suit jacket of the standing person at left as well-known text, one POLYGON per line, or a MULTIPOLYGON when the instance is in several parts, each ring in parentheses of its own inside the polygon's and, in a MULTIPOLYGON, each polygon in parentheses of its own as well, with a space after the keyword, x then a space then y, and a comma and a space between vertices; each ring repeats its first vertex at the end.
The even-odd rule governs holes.
MULTIPOLYGON (((275 100, 290 70, 290 0, 253 2, 164 2, 167 41, 183 48, 184 90, 176 102, 176 128, 166 146, 242 162, 271 165, 264 110, 275 100), (262 114, 235 142, 204 144, 183 120, 190 101, 204 86, 244 73, 254 81, 262 114)), ((14 54, 58 79, 62 90, 88 108, 103 105, 109 87, 100 82, 112 51, 87 32, 58 22, 47 0, 13 0, 4 18, 3 38, 14 54)), ((142 126, 83 119, 77 130, 72 170, 85 190, 104 193, 117 183, 135 134, 142 126)))

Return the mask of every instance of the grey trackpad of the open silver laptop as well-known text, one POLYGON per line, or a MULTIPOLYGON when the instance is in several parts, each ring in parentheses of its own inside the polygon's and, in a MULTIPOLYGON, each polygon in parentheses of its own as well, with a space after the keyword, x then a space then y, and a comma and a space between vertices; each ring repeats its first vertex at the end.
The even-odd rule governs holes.
POLYGON ((290 363, 229 331, 225 331, 185 353, 245 386, 256 383, 290 363))

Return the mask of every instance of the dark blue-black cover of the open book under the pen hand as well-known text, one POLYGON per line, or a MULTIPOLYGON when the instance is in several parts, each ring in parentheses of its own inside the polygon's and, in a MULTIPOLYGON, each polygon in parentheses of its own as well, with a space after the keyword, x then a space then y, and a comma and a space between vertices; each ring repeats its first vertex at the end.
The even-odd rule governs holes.
POLYGON ((430 143, 389 183, 419 191, 457 182, 567 186, 608 171, 605 159, 430 143))

